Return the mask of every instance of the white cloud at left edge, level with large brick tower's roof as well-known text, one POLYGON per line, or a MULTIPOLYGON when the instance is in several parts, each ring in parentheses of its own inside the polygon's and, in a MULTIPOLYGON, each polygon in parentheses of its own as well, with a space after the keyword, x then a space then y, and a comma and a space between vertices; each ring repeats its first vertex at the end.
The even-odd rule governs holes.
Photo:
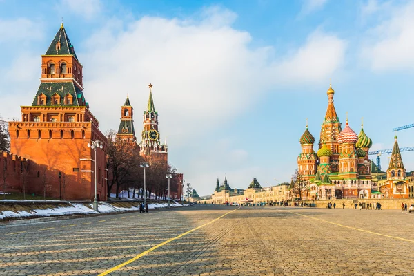
POLYGON ((42 24, 39 22, 34 23, 25 18, 12 20, 0 19, 0 44, 32 41, 42 38, 42 24))

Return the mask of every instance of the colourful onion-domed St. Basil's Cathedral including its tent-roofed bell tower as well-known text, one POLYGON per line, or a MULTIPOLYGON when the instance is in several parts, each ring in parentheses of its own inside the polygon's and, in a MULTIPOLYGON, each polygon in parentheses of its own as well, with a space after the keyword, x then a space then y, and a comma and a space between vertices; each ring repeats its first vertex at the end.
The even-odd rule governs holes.
MULTIPOLYGON (((372 189, 371 173, 375 164, 369 160, 368 151, 373 142, 365 134, 363 125, 357 135, 348 124, 348 118, 342 129, 333 104, 335 91, 331 85, 327 94, 328 109, 321 127, 318 151, 313 150, 315 138, 307 125, 299 139, 302 153, 297 157, 298 173, 301 181, 308 183, 304 197, 309 200, 373 198, 371 193, 380 193, 372 189)), ((386 174, 387 180, 382 187, 387 193, 385 196, 408 198, 408 180, 397 136, 386 174)))

